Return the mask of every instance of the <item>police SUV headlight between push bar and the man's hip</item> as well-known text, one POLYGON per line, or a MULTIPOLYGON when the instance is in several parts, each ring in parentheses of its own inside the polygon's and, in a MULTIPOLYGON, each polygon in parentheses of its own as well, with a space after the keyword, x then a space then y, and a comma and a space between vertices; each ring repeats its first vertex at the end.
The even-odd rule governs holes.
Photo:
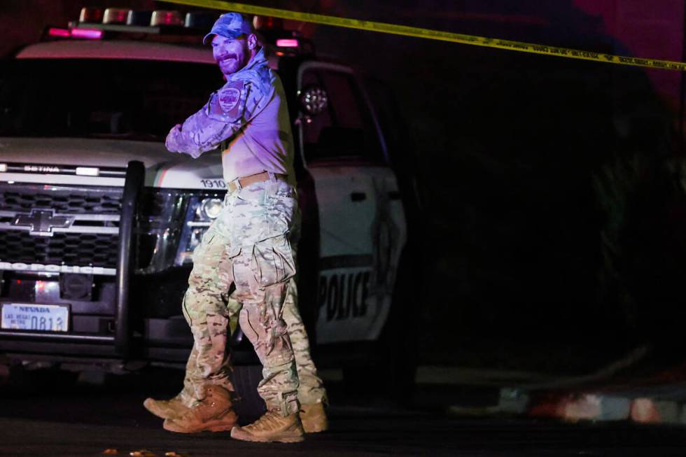
POLYGON ((185 223, 179 238, 179 249, 176 251, 176 265, 187 265, 193 262, 193 251, 211 223, 219 217, 222 200, 216 197, 191 197, 186 211, 185 223))

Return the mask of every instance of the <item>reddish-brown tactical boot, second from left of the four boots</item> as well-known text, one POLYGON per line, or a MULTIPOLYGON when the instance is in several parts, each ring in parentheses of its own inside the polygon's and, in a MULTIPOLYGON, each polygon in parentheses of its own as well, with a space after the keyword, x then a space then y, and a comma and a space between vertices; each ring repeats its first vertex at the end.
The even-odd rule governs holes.
POLYGON ((167 419, 163 425, 165 430, 177 433, 231 430, 237 420, 231 393, 223 387, 210 386, 206 395, 197 405, 186 408, 180 416, 167 419))

